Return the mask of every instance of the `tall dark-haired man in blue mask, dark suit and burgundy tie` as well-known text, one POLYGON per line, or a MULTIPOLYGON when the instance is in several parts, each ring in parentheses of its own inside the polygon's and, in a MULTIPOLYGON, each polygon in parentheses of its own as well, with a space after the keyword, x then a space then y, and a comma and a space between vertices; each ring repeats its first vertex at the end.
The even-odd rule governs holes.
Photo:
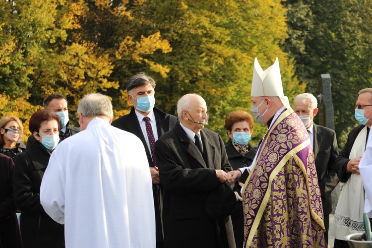
MULTIPOLYGON (((161 184, 156 158, 154 156, 155 141, 165 132, 173 128, 178 118, 166 114, 155 106, 155 80, 140 72, 132 76, 126 83, 128 99, 133 104, 130 113, 112 122, 112 125, 139 137, 145 147, 150 166, 155 203, 156 247, 164 247, 161 218, 161 184), (150 124, 150 125, 149 125, 150 124), (150 127, 151 126, 151 127, 150 127)), ((145 225, 145 223, 144 223, 145 225)))

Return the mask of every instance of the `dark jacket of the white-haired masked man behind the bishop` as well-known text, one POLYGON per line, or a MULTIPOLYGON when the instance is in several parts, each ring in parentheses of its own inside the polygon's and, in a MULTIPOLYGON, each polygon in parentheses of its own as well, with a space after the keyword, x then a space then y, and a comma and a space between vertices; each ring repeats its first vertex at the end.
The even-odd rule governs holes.
POLYGON ((314 124, 314 159, 316 174, 323 203, 323 213, 332 212, 331 192, 340 181, 334 168, 334 161, 338 157, 338 146, 334 130, 314 124))

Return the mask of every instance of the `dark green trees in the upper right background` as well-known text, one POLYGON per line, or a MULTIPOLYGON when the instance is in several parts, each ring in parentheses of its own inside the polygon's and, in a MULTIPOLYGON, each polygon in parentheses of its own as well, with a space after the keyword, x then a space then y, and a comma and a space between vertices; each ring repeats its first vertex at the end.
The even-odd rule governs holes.
POLYGON ((283 48, 296 60, 296 75, 318 94, 317 79, 329 73, 335 131, 340 147, 354 119, 358 91, 372 81, 372 2, 287 0, 289 37, 283 48))

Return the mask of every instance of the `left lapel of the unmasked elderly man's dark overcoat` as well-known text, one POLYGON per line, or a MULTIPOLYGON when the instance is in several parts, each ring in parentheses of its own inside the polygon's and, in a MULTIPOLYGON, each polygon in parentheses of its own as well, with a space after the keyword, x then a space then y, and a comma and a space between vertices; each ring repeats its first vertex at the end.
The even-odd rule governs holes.
POLYGON ((177 123, 173 130, 175 130, 180 138, 181 145, 183 146, 180 148, 185 150, 190 157, 194 158, 200 164, 200 167, 207 168, 207 165, 203 159, 203 155, 201 155, 194 141, 191 140, 190 137, 186 134, 180 123, 177 123))

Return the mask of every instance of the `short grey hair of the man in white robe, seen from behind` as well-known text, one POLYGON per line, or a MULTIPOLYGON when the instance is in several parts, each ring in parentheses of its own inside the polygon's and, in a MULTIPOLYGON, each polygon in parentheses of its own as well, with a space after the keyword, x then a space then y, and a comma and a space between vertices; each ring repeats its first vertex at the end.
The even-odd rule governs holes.
POLYGON ((101 93, 85 95, 77 106, 77 113, 84 117, 107 116, 113 118, 113 105, 110 99, 101 93))

